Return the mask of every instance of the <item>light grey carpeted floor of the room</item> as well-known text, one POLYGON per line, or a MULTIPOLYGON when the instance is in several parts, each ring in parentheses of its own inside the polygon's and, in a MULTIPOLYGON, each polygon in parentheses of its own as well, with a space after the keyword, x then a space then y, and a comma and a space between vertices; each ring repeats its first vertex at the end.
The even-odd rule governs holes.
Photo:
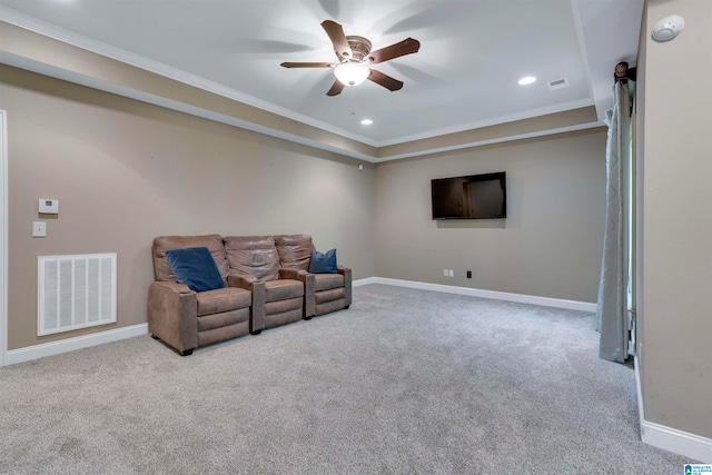
POLYGON ((180 357, 148 335, 0 370, 0 473, 678 474, 593 315, 368 285, 180 357))

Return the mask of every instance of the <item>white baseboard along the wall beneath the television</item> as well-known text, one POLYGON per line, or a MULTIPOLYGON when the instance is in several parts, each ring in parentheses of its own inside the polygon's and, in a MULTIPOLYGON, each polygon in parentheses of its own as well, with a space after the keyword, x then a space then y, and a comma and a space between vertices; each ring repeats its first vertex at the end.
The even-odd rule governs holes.
MULTIPOLYGON (((397 287, 417 288, 421 290, 443 291, 446 294, 468 295, 471 297, 493 298, 496 300, 516 301, 520 304, 541 305, 543 307, 566 308, 568 310, 596 311, 596 304, 576 300, 563 300, 560 298, 537 297, 535 295, 510 294, 506 291, 483 290, 469 287, 457 287, 442 284, 418 283, 415 280, 389 279, 385 277, 370 277, 366 284, 384 284, 397 287)), ((362 284, 364 285, 364 284, 362 284)))

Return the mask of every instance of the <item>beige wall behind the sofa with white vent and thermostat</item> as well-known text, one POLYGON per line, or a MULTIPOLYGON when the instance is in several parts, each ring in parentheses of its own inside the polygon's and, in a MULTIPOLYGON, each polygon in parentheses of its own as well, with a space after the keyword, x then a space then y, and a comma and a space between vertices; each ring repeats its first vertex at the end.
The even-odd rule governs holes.
POLYGON ((8 349, 107 329, 36 336, 38 256, 118 253, 118 327, 146 321, 160 235, 307 231, 355 279, 374 275, 369 164, 6 66, 0 78, 8 349), (31 237, 39 198, 60 202, 47 238, 31 237))

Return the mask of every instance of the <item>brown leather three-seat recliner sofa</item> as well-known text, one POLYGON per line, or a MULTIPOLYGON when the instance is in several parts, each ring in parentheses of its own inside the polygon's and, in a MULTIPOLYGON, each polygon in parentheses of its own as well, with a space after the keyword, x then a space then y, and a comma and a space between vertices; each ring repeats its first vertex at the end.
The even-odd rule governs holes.
POLYGON ((148 289, 148 331, 185 356, 248 331, 257 335, 348 308, 350 269, 338 266, 338 274, 309 274, 313 249, 309 235, 157 237, 151 247, 155 281, 148 289), (176 280, 166 253, 190 247, 208 248, 225 288, 192 291, 176 280))

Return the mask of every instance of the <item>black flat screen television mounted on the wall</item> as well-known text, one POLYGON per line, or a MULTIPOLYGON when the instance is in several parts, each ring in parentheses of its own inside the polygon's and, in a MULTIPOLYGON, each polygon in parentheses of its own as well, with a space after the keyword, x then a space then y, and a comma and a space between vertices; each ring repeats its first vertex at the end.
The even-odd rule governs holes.
POLYGON ((506 174, 469 175, 431 181, 433 219, 507 217, 506 174))

